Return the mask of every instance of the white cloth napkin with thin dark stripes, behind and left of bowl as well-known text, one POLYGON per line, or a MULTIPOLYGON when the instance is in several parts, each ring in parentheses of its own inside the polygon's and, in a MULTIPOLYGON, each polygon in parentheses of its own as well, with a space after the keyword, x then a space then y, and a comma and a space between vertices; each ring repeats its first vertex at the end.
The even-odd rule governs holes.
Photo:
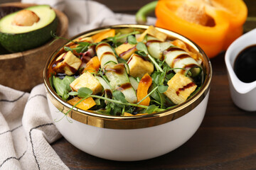
MULTIPOLYGON (((22 2, 50 4, 63 11, 69 18, 70 36, 100 26, 135 23, 134 16, 113 13, 95 1, 22 2)), ((155 18, 149 18, 149 25, 154 22, 155 18)), ((43 84, 35 86, 30 94, 0 85, 0 170, 68 169, 50 146, 60 137, 50 117, 43 84)))

